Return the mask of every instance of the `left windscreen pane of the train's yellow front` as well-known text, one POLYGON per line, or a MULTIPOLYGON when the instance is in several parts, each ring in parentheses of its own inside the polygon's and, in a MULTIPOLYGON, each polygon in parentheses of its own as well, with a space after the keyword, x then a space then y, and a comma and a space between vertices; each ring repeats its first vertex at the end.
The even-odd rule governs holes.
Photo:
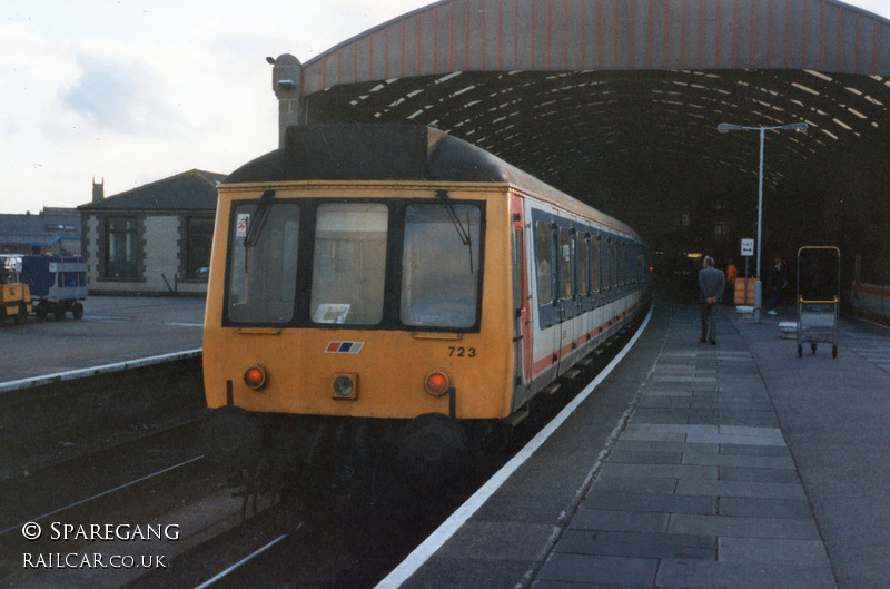
POLYGON ((236 323, 287 323, 296 296, 299 207, 270 204, 254 245, 245 245, 256 212, 256 205, 239 205, 233 217, 228 316, 236 323))

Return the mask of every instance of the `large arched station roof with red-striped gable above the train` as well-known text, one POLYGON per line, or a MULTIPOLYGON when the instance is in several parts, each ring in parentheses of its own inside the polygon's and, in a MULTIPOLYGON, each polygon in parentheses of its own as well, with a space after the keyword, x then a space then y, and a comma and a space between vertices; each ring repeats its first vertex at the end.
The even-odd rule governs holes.
MULTIPOLYGON (((890 22, 832 0, 452 0, 300 65, 284 128, 435 126, 629 222, 656 248, 853 247, 890 219, 890 22)), ((726 252, 724 254, 723 252, 726 252)))

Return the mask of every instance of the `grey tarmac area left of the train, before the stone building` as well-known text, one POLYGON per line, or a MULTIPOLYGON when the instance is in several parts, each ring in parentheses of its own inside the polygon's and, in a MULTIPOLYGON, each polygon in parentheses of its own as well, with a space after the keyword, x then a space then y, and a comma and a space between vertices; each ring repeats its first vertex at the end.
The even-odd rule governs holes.
POLYGON ((201 347, 204 298, 91 296, 83 318, 0 324, 0 383, 201 347))

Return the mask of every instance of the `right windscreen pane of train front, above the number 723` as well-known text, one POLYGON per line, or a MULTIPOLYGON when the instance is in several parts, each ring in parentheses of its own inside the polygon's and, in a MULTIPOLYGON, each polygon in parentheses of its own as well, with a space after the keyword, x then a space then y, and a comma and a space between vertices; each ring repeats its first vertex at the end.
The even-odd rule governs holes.
POLYGON ((475 205, 409 205, 402 256, 402 323, 472 327, 479 285, 482 212, 475 205), (453 215, 452 215, 453 214, 453 215))

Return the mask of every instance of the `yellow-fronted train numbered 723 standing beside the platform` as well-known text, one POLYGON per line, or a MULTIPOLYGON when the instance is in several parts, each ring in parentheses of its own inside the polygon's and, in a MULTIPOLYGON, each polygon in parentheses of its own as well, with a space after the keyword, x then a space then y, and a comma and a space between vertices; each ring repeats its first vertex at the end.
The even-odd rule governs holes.
MULTIPOLYGON (((415 480, 453 477, 486 424, 521 411, 640 305, 642 268, 636 287, 629 277, 624 297, 615 291, 616 318, 594 316, 609 305, 593 293, 585 313, 573 291, 568 321, 538 321, 542 305, 564 315, 561 252, 565 276, 577 245, 561 249, 556 229, 546 278, 555 298, 540 301, 532 217, 582 223, 570 204, 587 210, 432 128, 288 129, 285 147, 219 186, 204 338, 208 452, 239 468, 276 454, 289 457, 279 468, 317 468, 360 461, 387 440, 415 480), (564 324, 585 314, 566 345, 564 324)), ((630 268, 639 238, 621 234, 630 268)), ((590 262, 571 263, 572 281, 592 283, 590 262)))

